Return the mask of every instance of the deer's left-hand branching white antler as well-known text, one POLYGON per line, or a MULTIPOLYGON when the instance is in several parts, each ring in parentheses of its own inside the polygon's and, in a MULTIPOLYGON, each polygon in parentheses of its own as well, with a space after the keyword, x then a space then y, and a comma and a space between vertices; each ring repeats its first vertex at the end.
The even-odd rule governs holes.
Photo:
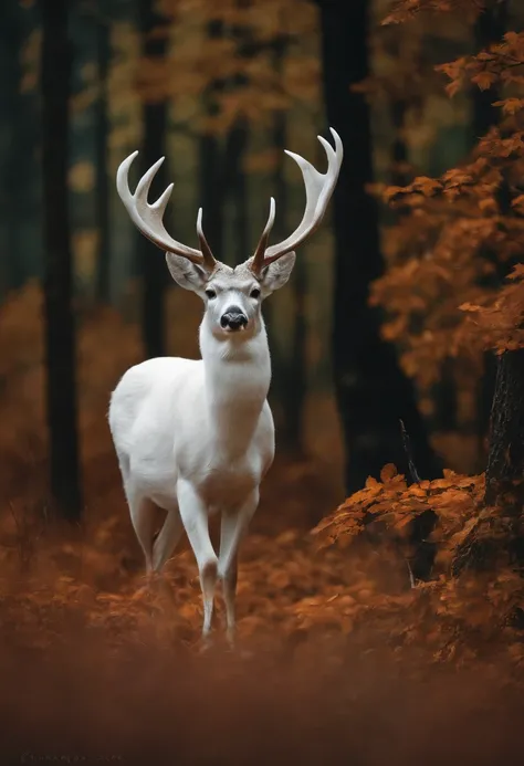
POLYGON ((217 261, 214 260, 211 249, 203 237, 201 229, 201 212, 199 212, 199 220, 197 220, 197 232, 199 235, 200 245, 202 246, 202 250, 200 251, 174 240, 172 237, 167 233, 164 227, 163 217, 171 196, 172 183, 167 187, 156 202, 149 204, 147 201, 151 181, 155 178, 158 168, 164 162, 164 157, 160 157, 160 159, 157 160, 155 165, 153 165, 144 174, 137 183, 135 193, 133 195, 130 192, 129 168, 137 155, 138 151, 134 151, 132 155, 126 157, 126 159, 120 162, 116 174, 116 188, 118 196, 124 202, 133 223, 136 225, 138 231, 144 234, 144 237, 147 237, 147 239, 156 244, 157 248, 160 248, 160 250, 176 253, 177 255, 182 255, 192 263, 201 265, 208 271, 212 271, 217 265, 217 261))

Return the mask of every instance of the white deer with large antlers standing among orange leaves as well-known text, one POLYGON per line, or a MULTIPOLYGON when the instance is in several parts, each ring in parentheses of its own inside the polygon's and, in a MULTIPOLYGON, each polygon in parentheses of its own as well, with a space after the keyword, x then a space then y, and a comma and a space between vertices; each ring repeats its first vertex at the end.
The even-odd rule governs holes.
MULTIPOLYGON (((163 224, 172 183, 149 204, 160 158, 129 191, 128 172, 137 151, 118 168, 116 185, 137 229, 166 251, 172 279, 205 304, 200 324, 201 359, 161 357, 132 367, 113 391, 109 427, 124 490, 149 574, 161 569, 184 529, 195 553, 203 598, 202 638, 211 630, 217 580, 222 581, 227 636, 235 625, 237 560, 241 537, 259 504, 259 487, 274 455, 274 426, 266 401, 271 361, 261 303, 289 280, 297 248, 321 223, 343 159, 322 136, 328 160, 318 172, 292 151, 304 177, 305 212, 291 237, 268 246, 270 214, 255 253, 241 265, 216 261, 197 218, 200 249, 171 239, 163 224), (154 539, 154 506, 166 511, 154 539), (221 513, 220 552, 209 537, 208 517, 221 513)), ((217 190, 217 193, 220 193, 217 190)))

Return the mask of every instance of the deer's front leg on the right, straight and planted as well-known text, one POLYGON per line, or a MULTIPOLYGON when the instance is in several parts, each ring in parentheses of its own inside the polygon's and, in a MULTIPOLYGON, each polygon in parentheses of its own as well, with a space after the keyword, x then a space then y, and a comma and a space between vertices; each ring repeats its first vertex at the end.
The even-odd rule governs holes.
POLYGON ((226 604, 228 641, 231 644, 234 642, 234 601, 237 595, 239 546, 258 505, 259 490, 256 489, 239 510, 222 512, 220 528, 219 576, 222 580, 222 592, 226 604))

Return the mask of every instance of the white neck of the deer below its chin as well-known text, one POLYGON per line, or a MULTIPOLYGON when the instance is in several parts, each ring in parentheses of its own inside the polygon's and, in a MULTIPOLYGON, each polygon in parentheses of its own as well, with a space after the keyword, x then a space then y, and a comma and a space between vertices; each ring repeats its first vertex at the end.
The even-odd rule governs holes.
POLYGON ((202 327, 200 350, 206 376, 206 405, 213 439, 231 457, 253 438, 271 382, 265 327, 243 340, 218 340, 202 327))

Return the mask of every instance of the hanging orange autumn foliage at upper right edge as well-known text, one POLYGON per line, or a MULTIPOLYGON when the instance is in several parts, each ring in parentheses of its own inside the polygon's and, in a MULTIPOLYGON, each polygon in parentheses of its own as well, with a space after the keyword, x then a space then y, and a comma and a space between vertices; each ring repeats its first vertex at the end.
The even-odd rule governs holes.
MULTIPOLYGON (((395 19, 404 19, 402 9, 395 19)), ((375 283, 373 301, 387 309, 384 336, 400 344, 405 370, 423 389, 451 358, 471 390, 484 349, 500 354, 524 339, 516 263, 524 240, 524 35, 510 31, 500 43, 437 69, 450 80, 450 96, 495 86, 499 124, 439 177, 377 188, 402 214, 386 232, 389 269, 375 283)))

